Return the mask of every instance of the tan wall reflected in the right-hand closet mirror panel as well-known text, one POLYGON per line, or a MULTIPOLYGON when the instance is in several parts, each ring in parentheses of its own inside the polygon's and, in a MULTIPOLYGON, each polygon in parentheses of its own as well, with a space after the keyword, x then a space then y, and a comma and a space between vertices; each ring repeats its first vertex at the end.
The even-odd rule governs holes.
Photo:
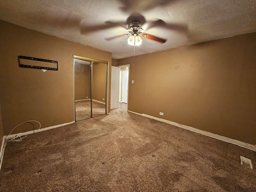
POLYGON ((92 64, 92 99, 104 103, 106 103, 106 67, 104 63, 92 64))

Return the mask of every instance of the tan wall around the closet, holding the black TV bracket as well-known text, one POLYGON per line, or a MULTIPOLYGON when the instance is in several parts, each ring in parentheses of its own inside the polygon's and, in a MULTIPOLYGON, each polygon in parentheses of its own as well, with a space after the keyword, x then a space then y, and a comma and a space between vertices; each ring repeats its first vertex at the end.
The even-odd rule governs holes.
MULTIPOLYGON (((111 70, 109 52, 4 21, 0 21, 0 36, 0 102, 5 135, 27 120, 38 120, 42 128, 74 121, 73 55, 108 61, 111 70), (56 60, 58 71, 20 68, 19 55, 56 60)), ((108 106, 110 111, 110 103, 108 106)), ((24 127, 13 133, 29 130, 31 127, 24 127)))

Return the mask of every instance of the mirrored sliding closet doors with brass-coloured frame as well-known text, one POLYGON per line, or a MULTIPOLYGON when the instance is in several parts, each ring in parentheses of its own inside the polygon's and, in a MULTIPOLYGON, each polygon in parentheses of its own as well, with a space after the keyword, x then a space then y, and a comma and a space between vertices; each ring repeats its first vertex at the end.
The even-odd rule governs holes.
POLYGON ((108 62, 74 56, 75 120, 107 114, 108 62))

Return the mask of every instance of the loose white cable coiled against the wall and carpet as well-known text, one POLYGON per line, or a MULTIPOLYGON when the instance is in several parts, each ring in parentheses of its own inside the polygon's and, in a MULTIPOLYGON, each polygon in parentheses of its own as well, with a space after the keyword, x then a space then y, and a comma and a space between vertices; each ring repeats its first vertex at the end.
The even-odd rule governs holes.
MULTIPOLYGON (((36 120, 25 121, 25 122, 23 122, 23 123, 21 123, 21 124, 18 124, 16 127, 18 127, 18 126, 20 126, 20 125, 22 125, 22 124, 24 124, 24 123, 31 123, 31 122, 38 122, 38 121, 36 121, 36 120)), ((38 122, 38 123, 39 123, 40 126, 39 126, 39 129, 38 129, 36 132, 38 132, 38 131, 40 130, 40 128, 41 128, 40 122, 38 122)), ((31 124, 32 124, 32 123, 31 123, 31 124)), ((35 132, 34 124, 32 124, 32 125, 33 125, 33 129, 34 129, 34 133, 36 133, 36 132, 35 132)), ((10 131, 10 133, 8 134, 8 136, 10 136, 11 132, 12 132, 16 127, 14 127, 14 128, 10 131)), ((13 138, 8 138, 8 136, 6 136, 6 138, 4 139, 4 147, 3 147, 2 154, 1 154, 1 159, 0 159, 0 170, 1 170, 2 161, 3 161, 3 157, 4 157, 4 149, 5 149, 6 145, 7 145, 7 142, 10 142, 10 141, 13 141, 13 142, 20 142, 23 138, 25 138, 25 137, 28 136, 28 135, 23 135, 23 136, 18 136, 18 135, 16 135, 16 136, 14 136, 13 138)))

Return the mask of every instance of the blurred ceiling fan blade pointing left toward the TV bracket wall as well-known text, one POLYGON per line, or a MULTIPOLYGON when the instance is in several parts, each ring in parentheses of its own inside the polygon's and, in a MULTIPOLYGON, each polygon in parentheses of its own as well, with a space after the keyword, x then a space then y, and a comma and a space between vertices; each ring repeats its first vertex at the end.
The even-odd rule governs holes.
POLYGON ((106 21, 105 24, 98 25, 98 26, 87 26, 86 24, 81 24, 81 34, 87 34, 87 33, 92 33, 96 32, 99 30, 105 30, 117 26, 122 26, 123 28, 127 29, 127 27, 122 23, 122 22, 110 22, 106 21))

